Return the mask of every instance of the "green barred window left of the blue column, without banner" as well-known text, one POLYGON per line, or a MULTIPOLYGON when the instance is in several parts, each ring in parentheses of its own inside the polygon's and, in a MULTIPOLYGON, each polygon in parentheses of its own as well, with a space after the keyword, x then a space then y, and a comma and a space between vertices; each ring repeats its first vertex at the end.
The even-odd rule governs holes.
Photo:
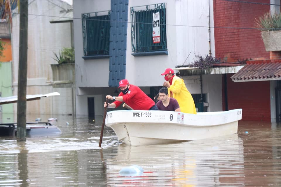
POLYGON ((82 32, 84 56, 109 55, 110 11, 82 14, 82 32))

